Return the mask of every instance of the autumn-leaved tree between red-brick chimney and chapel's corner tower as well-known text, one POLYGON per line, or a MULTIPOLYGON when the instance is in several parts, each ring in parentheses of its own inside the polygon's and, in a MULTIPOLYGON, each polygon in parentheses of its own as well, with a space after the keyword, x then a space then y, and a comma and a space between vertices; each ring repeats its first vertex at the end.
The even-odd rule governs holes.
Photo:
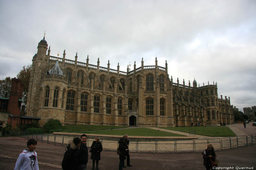
POLYGON ((32 65, 27 65, 27 67, 23 66, 22 70, 20 70, 19 74, 17 74, 17 78, 22 81, 24 84, 22 99, 23 99, 23 105, 27 106, 27 93, 29 91, 29 80, 30 80, 30 74, 31 74, 31 68, 32 65))

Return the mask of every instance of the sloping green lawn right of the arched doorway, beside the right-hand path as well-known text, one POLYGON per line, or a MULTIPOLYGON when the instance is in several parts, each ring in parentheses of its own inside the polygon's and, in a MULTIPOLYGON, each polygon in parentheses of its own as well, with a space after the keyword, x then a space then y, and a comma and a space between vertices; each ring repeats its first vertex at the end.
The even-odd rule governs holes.
POLYGON ((193 126, 193 127, 161 127, 162 129, 169 129, 174 131, 180 131, 189 133, 195 133, 197 135, 204 135, 210 137, 234 137, 236 134, 233 133, 229 127, 226 126, 193 126))

